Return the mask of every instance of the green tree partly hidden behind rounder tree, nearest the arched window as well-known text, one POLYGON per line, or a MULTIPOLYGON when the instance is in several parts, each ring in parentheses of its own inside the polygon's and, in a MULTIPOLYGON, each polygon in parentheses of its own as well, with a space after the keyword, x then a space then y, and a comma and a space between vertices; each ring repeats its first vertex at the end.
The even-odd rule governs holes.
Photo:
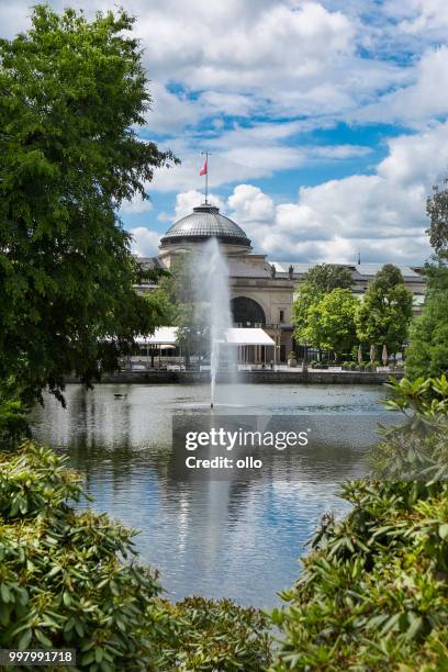
POLYGON ((352 278, 348 268, 334 264, 318 264, 304 275, 293 305, 294 338, 298 343, 306 343, 309 311, 316 306, 325 294, 335 289, 350 289, 351 284, 352 278))

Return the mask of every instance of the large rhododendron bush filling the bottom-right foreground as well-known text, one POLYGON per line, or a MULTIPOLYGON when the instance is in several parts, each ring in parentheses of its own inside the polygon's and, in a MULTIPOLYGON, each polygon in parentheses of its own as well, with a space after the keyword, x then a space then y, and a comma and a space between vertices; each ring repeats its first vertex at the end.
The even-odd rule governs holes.
POLYGON ((448 382, 392 381, 390 392, 408 421, 384 430, 373 478, 344 486, 348 516, 324 516, 272 615, 275 670, 448 669, 448 382))

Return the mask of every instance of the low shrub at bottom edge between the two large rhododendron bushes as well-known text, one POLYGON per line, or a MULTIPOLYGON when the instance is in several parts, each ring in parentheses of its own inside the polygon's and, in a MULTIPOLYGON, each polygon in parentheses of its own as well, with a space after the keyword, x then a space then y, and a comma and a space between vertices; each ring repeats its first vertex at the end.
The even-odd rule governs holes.
POLYGON ((161 670, 262 672, 271 661, 268 617, 229 600, 164 602, 155 624, 161 670))

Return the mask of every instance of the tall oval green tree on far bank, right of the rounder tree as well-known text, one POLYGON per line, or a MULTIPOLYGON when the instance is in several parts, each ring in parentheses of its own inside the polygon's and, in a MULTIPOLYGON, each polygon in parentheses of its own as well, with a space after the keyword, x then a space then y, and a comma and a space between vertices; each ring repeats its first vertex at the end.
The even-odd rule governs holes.
POLYGON ((396 266, 385 264, 369 284, 356 314, 357 335, 390 354, 402 350, 412 318, 413 295, 396 266))

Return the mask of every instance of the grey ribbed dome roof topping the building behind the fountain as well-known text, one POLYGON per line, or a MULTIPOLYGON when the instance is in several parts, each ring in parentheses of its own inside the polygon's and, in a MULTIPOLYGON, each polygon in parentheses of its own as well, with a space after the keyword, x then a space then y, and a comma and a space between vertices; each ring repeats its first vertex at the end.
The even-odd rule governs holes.
POLYGON ((203 240, 215 237, 222 243, 250 247, 250 240, 233 220, 220 213, 220 209, 204 203, 175 222, 160 240, 161 247, 180 240, 203 240))

